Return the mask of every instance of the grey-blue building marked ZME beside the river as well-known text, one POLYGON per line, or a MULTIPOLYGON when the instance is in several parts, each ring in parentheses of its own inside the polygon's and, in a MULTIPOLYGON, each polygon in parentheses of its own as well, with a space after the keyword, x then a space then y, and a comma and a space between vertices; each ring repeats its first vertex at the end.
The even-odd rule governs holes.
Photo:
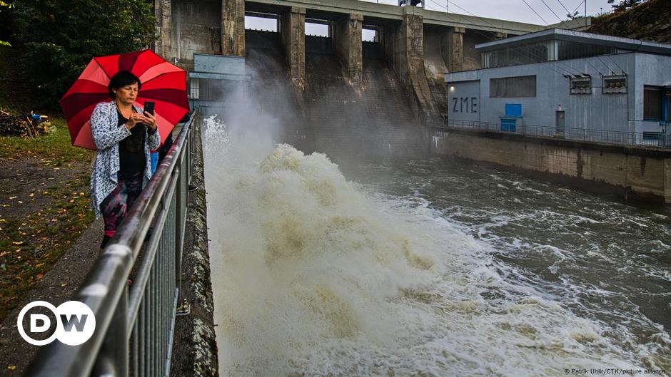
POLYGON ((475 46, 445 74, 453 126, 605 143, 667 143, 671 45, 549 29, 475 46))

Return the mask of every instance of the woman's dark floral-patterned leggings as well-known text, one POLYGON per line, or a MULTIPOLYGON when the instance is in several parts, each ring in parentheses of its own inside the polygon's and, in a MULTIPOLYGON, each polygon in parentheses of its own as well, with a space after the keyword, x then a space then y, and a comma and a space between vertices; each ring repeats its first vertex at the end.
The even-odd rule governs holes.
POLYGON ((101 211, 105 220, 105 236, 101 248, 114 236, 121 220, 131 210, 133 203, 142 191, 142 172, 124 175, 118 174, 118 182, 114 190, 101 203, 101 211))

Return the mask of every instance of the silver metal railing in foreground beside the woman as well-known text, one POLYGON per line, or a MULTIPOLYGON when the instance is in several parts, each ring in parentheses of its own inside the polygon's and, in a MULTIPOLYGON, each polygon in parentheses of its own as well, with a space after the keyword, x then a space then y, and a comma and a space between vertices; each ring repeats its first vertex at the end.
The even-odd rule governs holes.
POLYGON ((71 298, 94 312, 94 335, 81 346, 61 342, 44 346, 24 376, 169 375, 195 118, 196 113, 182 126, 173 147, 71 298), (143 247, 150 227, 151 236, 143 247), (129 286, 131 272, 136 274, 129 286))

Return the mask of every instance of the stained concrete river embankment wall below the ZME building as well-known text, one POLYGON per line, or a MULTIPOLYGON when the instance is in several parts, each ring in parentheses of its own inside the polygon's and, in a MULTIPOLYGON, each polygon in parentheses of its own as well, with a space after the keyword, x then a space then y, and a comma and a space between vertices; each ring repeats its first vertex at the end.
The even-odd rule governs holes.
POLYGON ((671 151, 523 138, 478 131, 435 131, 431 151, 523 170, 596 190, 671 204, 671 151))

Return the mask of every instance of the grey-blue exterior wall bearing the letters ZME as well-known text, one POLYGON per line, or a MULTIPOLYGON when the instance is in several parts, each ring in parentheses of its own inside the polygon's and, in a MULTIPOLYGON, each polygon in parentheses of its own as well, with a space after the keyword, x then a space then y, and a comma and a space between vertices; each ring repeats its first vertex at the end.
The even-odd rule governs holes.
POLYGON ((471 96, 473 81, 480 83, 477 115, 454 111, 450 120, 480 120, 498 123, 506 103, 521 103, 525 125, 555 125, 555 110, 562 105, 566 114, 566 128, 615 130, 624 132, 659 131, 655 122, 643 121, 643 86, 663 86, 671 82, 671 57, 643 53, 623 53, 600 58, 555 61, 522 66, 488 68, 478 71, 449 73, 445 76, 448 103, 471 96), (629 73, 626 94, 602 94, 600 73, 629 73), (597 70, 598 68, 598 70, 597 70), (592 94, 570 94, 570 83, 563 74, 588 73, 592 76, 592 94), (490 98, 490 79, 514 76, 536 76, 535 98, 490 98))

